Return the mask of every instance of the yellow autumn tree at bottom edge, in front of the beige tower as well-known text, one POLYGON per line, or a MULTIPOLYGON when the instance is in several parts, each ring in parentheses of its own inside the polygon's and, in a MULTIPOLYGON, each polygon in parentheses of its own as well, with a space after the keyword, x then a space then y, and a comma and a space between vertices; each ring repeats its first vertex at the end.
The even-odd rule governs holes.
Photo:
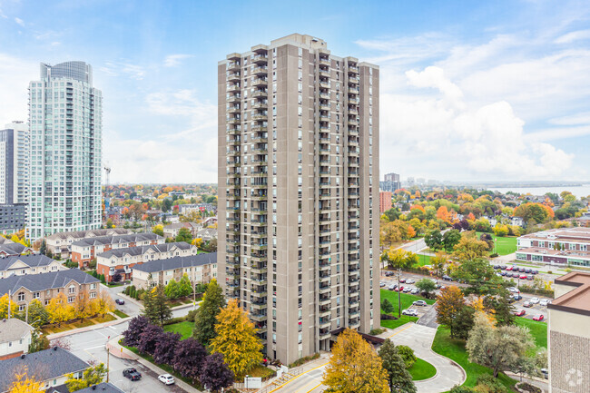
POLYGON ((339 393, 386 393, 388 371, 382 360, 354 330, 345 329, 332 348, 322 383, 339 393))

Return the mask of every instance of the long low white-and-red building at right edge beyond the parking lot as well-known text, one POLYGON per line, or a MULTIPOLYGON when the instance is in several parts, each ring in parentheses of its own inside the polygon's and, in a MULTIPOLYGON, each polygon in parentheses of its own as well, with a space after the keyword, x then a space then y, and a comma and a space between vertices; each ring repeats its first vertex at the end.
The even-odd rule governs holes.
POLYGON ((516 260, 590 267, 590 228, 560 228, 521 236, 516 260))

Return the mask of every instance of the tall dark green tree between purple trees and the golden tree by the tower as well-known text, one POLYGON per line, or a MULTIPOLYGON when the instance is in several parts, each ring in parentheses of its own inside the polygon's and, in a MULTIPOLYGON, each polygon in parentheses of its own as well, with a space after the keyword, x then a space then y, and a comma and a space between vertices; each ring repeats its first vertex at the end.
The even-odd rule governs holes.
POLYGON ((217 280, 211 280, 203 295, 201 307, 197 309, 192 330, 192 337, 202 342, 202 345, 209 346, 211 339, 215 337, 217 315, 224 305, 225 298, 221 286, 217 280))

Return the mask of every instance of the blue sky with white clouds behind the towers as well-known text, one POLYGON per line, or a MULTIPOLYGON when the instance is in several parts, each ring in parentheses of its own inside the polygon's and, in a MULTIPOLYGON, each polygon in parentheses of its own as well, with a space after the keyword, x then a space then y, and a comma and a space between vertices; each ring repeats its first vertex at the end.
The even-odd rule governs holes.
POLYGON ((217 182, 217 63, 284 35, 378 64, 380 172, 590 182, 590 2, 0 0, 0 126, 39 63, 103 91, 111 182, 217 182))

